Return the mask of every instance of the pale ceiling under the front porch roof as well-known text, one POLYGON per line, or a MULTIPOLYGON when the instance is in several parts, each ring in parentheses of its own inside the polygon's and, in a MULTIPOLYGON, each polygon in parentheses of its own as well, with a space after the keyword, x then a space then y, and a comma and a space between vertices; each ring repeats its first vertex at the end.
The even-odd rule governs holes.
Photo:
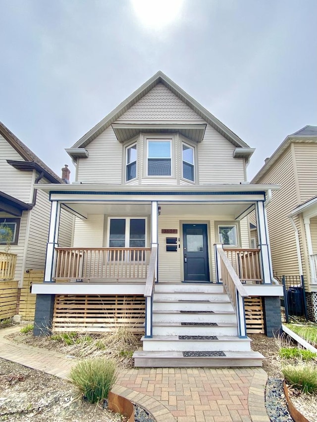
MULTIPOLYGON (((112 202, 104 204, 92 203, 67 203, 66 208, 73 210, 79 216, 87 217, 88 214, 105 214, 117 216, 141 216, 151 215, 149 202, 112 202)), ((233 216, 240 218, 254 209, 250 202, 235 203, 168 203, 159 202, 160 215, 197 215, 197 216, 233 216)))

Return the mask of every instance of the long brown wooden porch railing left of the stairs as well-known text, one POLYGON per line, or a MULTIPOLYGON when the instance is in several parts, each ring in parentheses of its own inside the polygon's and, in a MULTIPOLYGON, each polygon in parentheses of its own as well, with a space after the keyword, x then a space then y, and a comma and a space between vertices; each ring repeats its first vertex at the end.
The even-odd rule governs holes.
POLYGON ((150 248, 56 248, 55 281, 147 278, 150 248))

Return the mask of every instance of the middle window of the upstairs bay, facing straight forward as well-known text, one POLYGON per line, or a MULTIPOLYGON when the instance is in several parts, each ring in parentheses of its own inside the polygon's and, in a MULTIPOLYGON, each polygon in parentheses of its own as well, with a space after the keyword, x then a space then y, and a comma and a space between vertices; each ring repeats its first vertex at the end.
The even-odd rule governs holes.
POLYGON ((148 176, 171 176, 171 140, 148 140, 148 176))

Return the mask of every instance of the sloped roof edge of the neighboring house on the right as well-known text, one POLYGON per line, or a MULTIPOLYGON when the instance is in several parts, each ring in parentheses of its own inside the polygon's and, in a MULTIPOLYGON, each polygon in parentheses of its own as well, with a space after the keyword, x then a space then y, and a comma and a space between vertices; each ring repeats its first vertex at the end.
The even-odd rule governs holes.
POLYGON ((279 159, 285 149, 291 144, 291 142, 317 142, 317 126, 304 126, 304 128, 288 135, 284 141, 278 146, 273 154, 266 159, 264 166, 254 176, 251 184, 258 183, 261 177, 273 166, 273 164, 279 159))

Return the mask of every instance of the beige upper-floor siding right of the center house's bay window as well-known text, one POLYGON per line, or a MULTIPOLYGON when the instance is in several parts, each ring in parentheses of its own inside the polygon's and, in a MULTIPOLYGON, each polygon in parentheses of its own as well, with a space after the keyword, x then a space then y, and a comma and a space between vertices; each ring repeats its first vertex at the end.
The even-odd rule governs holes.
POLYGON ((198 144, 199 184, 239 183, 245 180, 244 159, 233 158, 235 146, 211 126, 198 144))

